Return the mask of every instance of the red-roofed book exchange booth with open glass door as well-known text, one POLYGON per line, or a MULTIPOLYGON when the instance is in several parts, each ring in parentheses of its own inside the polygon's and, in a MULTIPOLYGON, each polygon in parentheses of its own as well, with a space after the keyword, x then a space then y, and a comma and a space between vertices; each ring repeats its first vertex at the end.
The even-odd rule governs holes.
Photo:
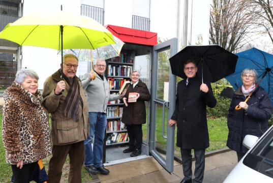
POLYGON ((176 153, 175 127, 168 126, 168 119, 175 108, 176 77, 171 74, 169 58, 177 52, 177 39, 157 44, 157 33, 114 25, 105 27, 125 42, 119 57, 106 60, 105 76, 110 93, 118 93, 123 83, 130 80, 130 72, 138 70, 140 80, 147 85, 151 99, 145 102, 146 124, 142 125, 142 152, 137 157, 123 153, 129 146, 127 130, 121 121, 123 103, 108 103, 103 163, 107 166, 153 156, 168 172, 172 172, 176 153))

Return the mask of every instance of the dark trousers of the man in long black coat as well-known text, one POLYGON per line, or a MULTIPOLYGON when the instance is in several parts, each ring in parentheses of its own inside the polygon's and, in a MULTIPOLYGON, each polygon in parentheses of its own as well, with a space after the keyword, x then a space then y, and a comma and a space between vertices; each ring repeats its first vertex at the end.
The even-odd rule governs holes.
MULTIPOLYGON (((205 149, 194 149, 195 170, 193 182, 202 182, 205 170, 205 149)), ((181 148, 182 167, 185 180, 192 179, 191 149, 181 148)))

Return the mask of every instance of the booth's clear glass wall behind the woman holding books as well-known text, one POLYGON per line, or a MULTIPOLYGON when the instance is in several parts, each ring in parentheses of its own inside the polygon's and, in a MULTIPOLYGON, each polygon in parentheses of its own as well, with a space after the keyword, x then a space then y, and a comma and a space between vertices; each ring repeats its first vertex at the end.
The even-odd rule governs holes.
MULTIPOLYGON (((141 55, 135 57, 134 69, 139 72, 139 79, 149 86, 149 55, 141 55)), ((149 87, 148 87, 149 88, 149 87)), ((146 106, 146 123, 142 125, 142 141, 147 143, 147 123, 148 123, 148 103, 146 106)))

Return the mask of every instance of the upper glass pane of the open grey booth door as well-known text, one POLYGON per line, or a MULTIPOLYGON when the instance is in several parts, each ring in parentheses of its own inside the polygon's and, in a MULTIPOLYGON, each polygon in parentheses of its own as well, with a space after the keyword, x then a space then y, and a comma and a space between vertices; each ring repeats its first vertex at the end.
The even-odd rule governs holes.
POLYGON ((157 98, 168 101, 170 49, 158 53, 157 98))

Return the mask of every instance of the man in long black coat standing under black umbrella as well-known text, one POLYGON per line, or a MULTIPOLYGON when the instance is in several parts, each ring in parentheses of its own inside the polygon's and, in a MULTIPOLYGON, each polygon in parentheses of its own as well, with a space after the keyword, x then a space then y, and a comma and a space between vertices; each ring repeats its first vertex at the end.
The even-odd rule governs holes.
POLYGON ((209 147, 206 106, 215 107, 216 99, 210 83, 202 83, 196 76, 197 67, 194 60, 184 65, 187 79, 177 84, 175 110, 169 126, 176 124, 176 145, 181 149, 184 179, 186 182, 202 182, 205 168, 205 148, 209 147), (194 149, 195 171, 192 180, 192 154, 194 149))

